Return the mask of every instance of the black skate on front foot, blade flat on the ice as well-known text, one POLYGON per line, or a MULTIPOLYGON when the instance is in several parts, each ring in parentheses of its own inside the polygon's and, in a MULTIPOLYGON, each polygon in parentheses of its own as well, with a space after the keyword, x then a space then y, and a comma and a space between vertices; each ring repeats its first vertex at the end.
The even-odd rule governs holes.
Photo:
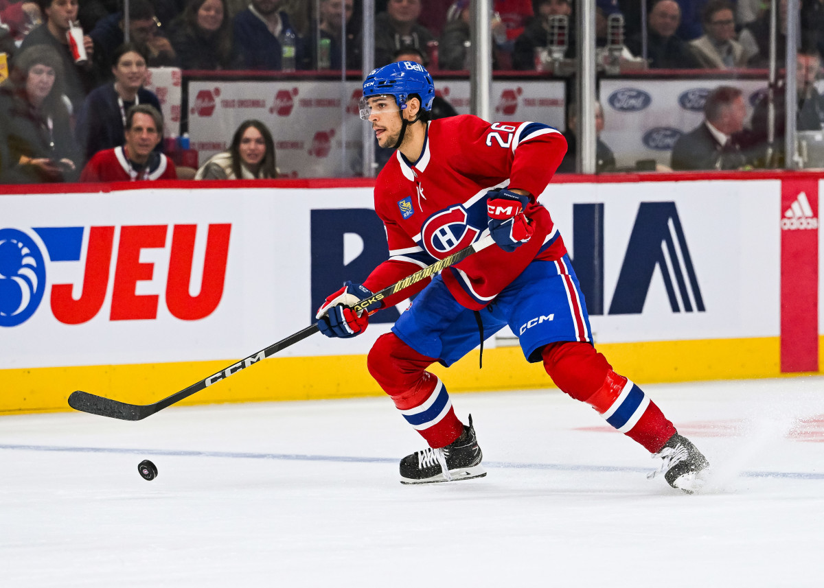
POLYGON ((446 447, 427 447, 400 460, 400 483, 426 484, 482 478, 486 475, 486 470, 480 465, 483 457, 470 415, 469 427, 464 425, 461 436, 446 447))

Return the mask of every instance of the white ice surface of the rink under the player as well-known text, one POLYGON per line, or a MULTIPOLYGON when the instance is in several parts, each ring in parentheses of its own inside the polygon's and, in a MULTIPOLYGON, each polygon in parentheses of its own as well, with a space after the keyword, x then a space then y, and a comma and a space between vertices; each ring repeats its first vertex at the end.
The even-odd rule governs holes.
POLYGON ((824 379, 644 388, 701 495, 557 390, 453 394, 489 474, 425 486, 385 398, 3 417, 0 586, 824 586, 824 379))

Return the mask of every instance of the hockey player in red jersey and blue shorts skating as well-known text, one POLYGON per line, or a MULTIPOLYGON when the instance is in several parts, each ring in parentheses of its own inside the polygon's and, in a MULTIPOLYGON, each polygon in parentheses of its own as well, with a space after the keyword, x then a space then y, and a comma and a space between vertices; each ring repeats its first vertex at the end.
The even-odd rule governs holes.
MULTIPOLYGON (((420 292, 391 333, 378 338, 368 369, 428 448, 400 461, 402 483, 485 475, 471 417, 463 424, 446 386, 426 368, 450 366, 509 325, 528 362, 543 362, 560 390, 590 404, 612 427, 662 458, 673 488, 700 488, 709 464, 647 394, 595 350, 564 240, 536 198, 566 152, 541 123, 488 123, 471 115, 428 120, 435 90, 419 63, 390 63, 363 82, 361 118, 396 155, 377 176, 375 211, 390 258, 363 284, 346 282, 317 312, 328 337, 363 333, 368 315, 420 292), (491 234, 497 246, 368 306, 351 308, 491 234)), ((658 472, 651 474, 654 476, 658 472)))

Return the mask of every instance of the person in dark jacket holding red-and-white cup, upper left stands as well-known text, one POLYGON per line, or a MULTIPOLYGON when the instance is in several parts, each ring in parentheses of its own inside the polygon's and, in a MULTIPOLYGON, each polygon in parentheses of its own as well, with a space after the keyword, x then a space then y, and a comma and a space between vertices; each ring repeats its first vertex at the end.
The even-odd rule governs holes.
POLYGON ((57 51, 63 62, 63 91, 72 104, 69 114, 77 114, 83 100, 97 85, 97 72, 92 63, 94 43, 89 35, 83 37, 88 59, 85 63, 75 63, 67 34, 70 23, 77 21, 77 0, 38 0, 38 5, 46 20, 26 35, 20 49, 44 44, 57 51))

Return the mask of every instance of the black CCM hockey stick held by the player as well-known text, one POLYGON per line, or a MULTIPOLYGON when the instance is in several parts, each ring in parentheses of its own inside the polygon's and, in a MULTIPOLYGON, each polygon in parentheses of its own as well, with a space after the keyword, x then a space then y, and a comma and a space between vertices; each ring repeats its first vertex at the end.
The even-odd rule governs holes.
MULTIPOLYGON (((353 309, 362 310, 372 304, 372 302, 383 300, 386 296, 400 292, 405 287, 409 287, 415 282, 420 282, 421 280, 432 276, 434 273, 440 272, 443 268, 457 264, 462 259, 466 259, 471 254, 486 249, 493 243, 494 240, 492 240, 492 237, 487 235, 484 238, 475 241, 472 245, 413 273, 409 278, 404 278, 400 280, 400 282, 396 282, 391 286, 383 288, 383 290, 376 292, 369 298, 359 301, 358 304, 353 306, 353 309)), ((180 402, 182 399, 188 398, 195 392, 204 390, 204 388, 210 385, 217 384, 219 381, 225 380, 229 376, 233 376, 238 371, 251 366, 253 363, 260 362, 260 360, 266 359, 267 357, 272 357, 280 350, 288 348, 290 345, 294 345, 298 341, 302 341, 309 335, 316 333, 317 330, 317 323, 313 323, 306 329, 302 329, 295 334, 289 335, 287 338, 280 340, 278 343, 273 343, 272 345, 269 345, 269 347, 261 349, 259 352, 253 353, 249 357, 241 359, 240 362, 233 363, 226 369, 218 371, 218 373, 208 376, 208 378, 204 378, 203 380, 190 385, 188 388, 184 388, 183 390, 180 390, 180 392, 171 394, 171 396, 158 400, 153 404, 129 404, 120 402, 119 400, 105 398, 104 396, 89 394, 88 392, 83 392, 82 390, 76 390, 69 395, 68 405, 75 410, 82 411, 83 413, 98 414, 101 417, 119 418, 122 421, 139 421, 163 410, 163 408, 180 402)))

